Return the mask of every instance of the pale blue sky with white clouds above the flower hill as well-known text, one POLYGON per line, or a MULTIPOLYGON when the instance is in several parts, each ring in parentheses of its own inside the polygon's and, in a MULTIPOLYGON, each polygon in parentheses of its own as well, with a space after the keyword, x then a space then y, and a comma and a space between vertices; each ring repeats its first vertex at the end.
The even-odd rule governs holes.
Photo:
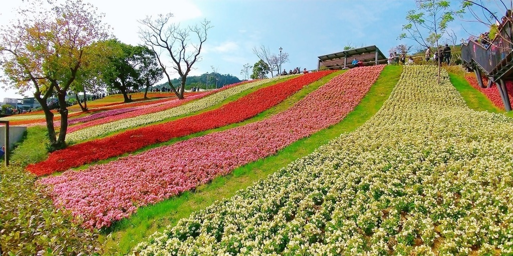
MULTIPOLYGON (((219 73, 242 78, 242 66, 258 61, 251 49, 260 45, 276 54, 280 47, 289 53, 290 63, 282 65, 286 70, 315 69, 317 56, 342 51, 349 43, 354 47, 376 45, 384 54, 399 44, 419 48, 415 41, 397 40, 408 10, 416 9, 413 0, 146 0, 144 4, 84 1, 104 12, 104 20, 112 26, 113 34, 132 45, 142 43, 137 34, 140 26, 137 20, 146 15, 170 12, 182 25, 198 23, 203 18, 210 20, 214 27, 209 31, 202 61, 196 63, 191 75, 212 72, 214 66, 219 73)), ((3 4, 0 25, 7 25, 15 18, 11 10, 18 4, 19 1, 3 4)), ((472 33, 486 30, 480 24, 458 19, 450 28, 457 33, 458 41, 469 36, 465 30, 472 33)), ((15 91, 0 89, 0 100, 14 96, 15 91)))

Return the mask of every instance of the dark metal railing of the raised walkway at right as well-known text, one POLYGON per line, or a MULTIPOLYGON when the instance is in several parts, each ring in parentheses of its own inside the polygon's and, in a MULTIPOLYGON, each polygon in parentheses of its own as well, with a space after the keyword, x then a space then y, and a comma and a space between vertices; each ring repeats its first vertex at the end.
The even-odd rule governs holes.
POLYGON ((462 44, 462 60, 467 63, 470 63, 473 60, 487 74, 493 73, 506 56, 513 51, 513 44, 511 44, 511 29, 511 20, 507 20, 499 31, 500 35, 497 35, 490 44, 482 45, 472 39, 469 40, 467 44, 462 44), (506 38, 507 40, 503 38, 506 38))

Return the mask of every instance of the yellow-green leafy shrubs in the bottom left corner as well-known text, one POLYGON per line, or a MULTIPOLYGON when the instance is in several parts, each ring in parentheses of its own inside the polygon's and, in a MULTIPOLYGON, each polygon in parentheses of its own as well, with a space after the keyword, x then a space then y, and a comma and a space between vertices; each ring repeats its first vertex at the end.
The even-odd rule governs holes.
POLYGON ((31 127, 12 151, 12 165, 0 166, 1 255, 103 254, 105 237, 84 230, 69 212, 53 206, 51 198, 25 171, 28 163, 46 158, 45 127, 31 127))

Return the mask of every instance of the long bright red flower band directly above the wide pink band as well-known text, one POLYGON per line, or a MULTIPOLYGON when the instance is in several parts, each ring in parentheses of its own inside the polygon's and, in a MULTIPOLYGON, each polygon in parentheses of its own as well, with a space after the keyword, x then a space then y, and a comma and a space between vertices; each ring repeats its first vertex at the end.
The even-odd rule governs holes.
POLYGON ((56 151, 43 162, 30 164, 27 170, 41 176, 70 167, 104 160, 125 153, 134 152, 142 147, 168 141, 217 127, 236 123, 255 116, 274 106, 309 83, 332 73, 323 71, 309 73, 273 86, 262 88, 219 109, 178 120, 150 125, 140 129, 126 131, 111 137, 88 141, 56 151))

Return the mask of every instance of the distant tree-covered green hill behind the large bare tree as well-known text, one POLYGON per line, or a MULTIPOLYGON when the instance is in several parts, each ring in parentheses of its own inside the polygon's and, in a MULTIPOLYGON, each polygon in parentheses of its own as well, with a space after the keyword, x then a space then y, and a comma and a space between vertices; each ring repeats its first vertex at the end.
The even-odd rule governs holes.
MULTIPOLYGON (((192 87, 199 87, 199 88, 206 89, 207 75, 208 75, 208 89, 221 88, 225 84, 232 84, 232 83, 237 83, 237 82, 242 81, 238 77, 232 76, 230 74, 222 75, 219 73, 205 73, 201 76, 188 76, 187 80, 185 81, 185 89, 189 90, 192 87)), ((180 79, 179 78, 172 79, 171 83, 173 84, 174 87, 178 87, 178 86, 180 86, 180 79)), ((167 88, 169 88, 167 86, 167 82, 158 84, 154 87, 160 89, 163 86, 166 86, 167 88)))

